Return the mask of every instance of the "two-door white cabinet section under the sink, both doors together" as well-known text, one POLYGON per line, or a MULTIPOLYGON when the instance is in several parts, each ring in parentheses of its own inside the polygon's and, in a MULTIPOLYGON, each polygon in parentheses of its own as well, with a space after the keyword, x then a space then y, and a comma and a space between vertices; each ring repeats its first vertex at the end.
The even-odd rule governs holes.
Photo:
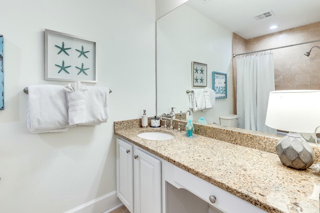
POLYGON ((116 193, 130 213, 161 213, 161 161, 116 139, 116 193))

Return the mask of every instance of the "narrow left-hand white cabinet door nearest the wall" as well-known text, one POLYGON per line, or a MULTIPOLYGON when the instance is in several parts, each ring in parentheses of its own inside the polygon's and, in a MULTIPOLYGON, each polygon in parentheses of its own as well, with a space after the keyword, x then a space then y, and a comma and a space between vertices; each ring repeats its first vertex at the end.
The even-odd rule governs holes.
POLYGON ((133 213, 133 148, 116 139, 116 196, 133 213))

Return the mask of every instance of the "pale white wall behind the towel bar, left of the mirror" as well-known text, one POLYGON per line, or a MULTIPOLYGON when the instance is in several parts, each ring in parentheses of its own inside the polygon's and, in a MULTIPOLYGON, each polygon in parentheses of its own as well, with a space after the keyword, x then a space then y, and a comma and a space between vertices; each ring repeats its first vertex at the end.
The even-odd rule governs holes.
POLYGON ((62 213, 115 190, 113 121, 155 113, 150 0, 0 0, 4 107, 0 111, 0 212, 62 213), (109 119, 64 133, 31 134, 27 95, 44 81, 44 29, 96 41, 98 83, 109 119), (144 80, 141 83, 142 79, 144 80))

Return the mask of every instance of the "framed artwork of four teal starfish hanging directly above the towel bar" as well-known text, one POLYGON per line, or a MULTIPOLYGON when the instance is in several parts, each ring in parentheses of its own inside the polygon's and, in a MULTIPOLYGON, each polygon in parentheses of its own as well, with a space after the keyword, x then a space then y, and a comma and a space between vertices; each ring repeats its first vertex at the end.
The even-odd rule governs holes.
POLYGON ((44 30, 44 80, 96 83, 95 42, 44 30))

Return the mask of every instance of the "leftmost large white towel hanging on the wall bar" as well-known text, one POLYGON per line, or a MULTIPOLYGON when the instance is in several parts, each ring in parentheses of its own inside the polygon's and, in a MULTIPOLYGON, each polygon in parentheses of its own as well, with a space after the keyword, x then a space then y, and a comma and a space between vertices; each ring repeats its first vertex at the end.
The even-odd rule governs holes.
POLYGON ((60 85, 28 86, 27 128, 31 133, 64 132, 71 127, 60 85))

